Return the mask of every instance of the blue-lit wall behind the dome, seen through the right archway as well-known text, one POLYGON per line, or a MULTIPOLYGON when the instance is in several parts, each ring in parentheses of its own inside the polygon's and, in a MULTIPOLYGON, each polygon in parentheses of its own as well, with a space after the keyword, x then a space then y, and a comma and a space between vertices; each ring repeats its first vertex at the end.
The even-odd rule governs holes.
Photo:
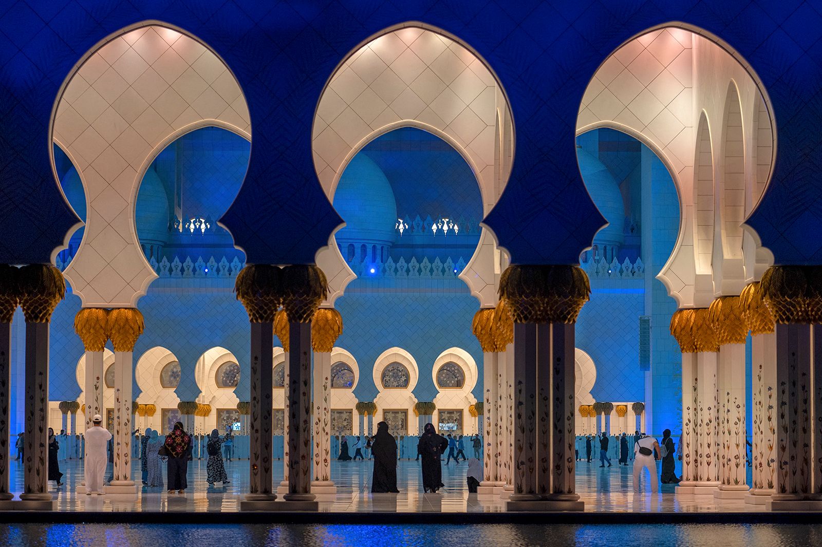
MULTIPOLYGON (((591 394, 598 401, 646 402, 649 433, 661 433, 666 427, 679 430, 681 353, 668 329, 677 305, 655 278, 677 241, 680 214, 676 186, 665 165, 647 146, 619 131, 589 131, 577 144, 583 152, 579 154, 583 178, 586 172, 598 173, 597 186, 589 186, 593 200, 600 199, 598 191, 607 190, 600 164, 621 195, 624 244, 617 260, 640 258, 645 268, 640 279, 591 279, 591 299, 583 307, 576 329, 576 346, 589 353, 597 367, 591 394), (591 165, 593 162, 597 164, 591 165), (640 366, 643 315, 650 316, 651 325, 649 370, 640 366)), ((598 232, 594 245, 602 243, 608 228, 598 232)))

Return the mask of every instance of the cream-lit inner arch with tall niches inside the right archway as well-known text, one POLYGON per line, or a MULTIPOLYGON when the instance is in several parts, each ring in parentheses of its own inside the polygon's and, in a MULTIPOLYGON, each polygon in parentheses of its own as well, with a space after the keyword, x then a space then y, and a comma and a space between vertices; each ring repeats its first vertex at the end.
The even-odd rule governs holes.
MULTIPOLYGON (((658 278, 666 286, 668 294, 679 307, 708 306, 713 300, 713 269, 707 273, 709 283, 701 283, 698 276, 698 262, 704 255, 700 240, 713 241, 711 233, 702 228, 697 232, 698 221, 712 217, 716 212, 715 194, 711 199, 701 199, 698 195, 697 179, 700 172, 695 168, 698 158, 700 127, 698 122, 704 115, 709 127, 711 142, 710 155, 719 159, 723 154, 725 129, 722 120, 726 111, 728 86, 734 83, 741 105, 743 135, 742 153, 746 165, 746 211, 750 214, 759 200, 773 169, 776 148, 773 108, 770 107, 764 86, 747 62, 733 48, 713 34, 686 25, 671 22, 646 30, 626 41, 608 56, 594 74, 585 91, 580 114, 577 118, 577 134, 602 126, 621 129, 640 139, 658 155, 672 174, 680 197, 680 231, 677 244, 667 263, 658 273, 658 278), (769 131, 758 131, 757 143, 751 137, 754 113, 758 113, 758 126, 767 126, 769 131), (765 143, 764 141, 768 142, 765 143), (755 154, 762 150, 762 154, 755 154), (756 169, 751 158, 757 156, 756 169), (766 158, 767 156, 767 158, 766 158), (757 171, 757 181, 749 182, 757 171), (761 186, 761 190, 759 186, 761 186), (697 285, 706 285, 697 287, 697 285)), ((737 145, 732 146, 738 149, 737 145)), ((735 152, 736 153, 736 152, 735 152)), ((709 173, 701 176, 718 180, 719 161, 712 162, 709 173)), ((738 215, 737 215, 738 216, 738 215)), ((720 223, 720 228, 722 225, 720 223)), ((759 260, 766 261, 769 252, 756 252, 758 237, 750 228, 749 248, 754 250, 759 260)), ((733 230, 732 230, 733 232, 733 230)), ((732 237, 737 234, 732 233, 732 237)), ((713 253, 711 244, 709 256, 713 253)), ((709 260, 710 261, 710 260, 709 260)), ((716 264, 719 268, 722 264, 716 264)), ((764 271, 763 264, 757 266, 764 271)), ((721 282, 718 283, 718 286, 721 282)))

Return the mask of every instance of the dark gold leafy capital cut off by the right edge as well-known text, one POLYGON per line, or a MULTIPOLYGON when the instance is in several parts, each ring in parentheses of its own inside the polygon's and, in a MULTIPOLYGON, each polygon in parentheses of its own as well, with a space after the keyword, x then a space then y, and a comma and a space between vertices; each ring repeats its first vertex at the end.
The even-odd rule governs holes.
POLYGON ((822 265, 771 266, 760 295, 776 323, 822 323, 822 265))

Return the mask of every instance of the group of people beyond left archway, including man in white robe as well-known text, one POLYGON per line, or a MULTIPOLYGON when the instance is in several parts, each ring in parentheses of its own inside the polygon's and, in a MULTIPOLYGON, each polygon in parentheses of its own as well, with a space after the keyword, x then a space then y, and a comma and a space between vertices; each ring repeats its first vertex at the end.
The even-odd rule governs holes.
MULTIPOLYGON (((49 429, 49 439, 53 431, 49 429)), ((103 418, 99 414, 92 418, 92 426, 85 431, 85 490, 86 494, 103 494, 104 475, 108 458, 107 445, 112 440, 112 434, 103 427, 103 418)), ((211 431, 206 444, 208 462, 206 462, 206 476, 209 485, 215 483, 229 484, 229 476, 223 464, 225 444, 232 443, 229 431, 224 437, 218 430, 211 431)), ((56 444, 56 441, 54 441, 56 444)), ((188 488, 188 462, 192 461, 192 435, 187 434, 182 422, 174 424, 171 433, 164 440, 159 439, 156 430, 147 429, 140 441, 141 448, 141 481, 150 488, 163 488, 162 462, 166 464, 166 475, 169 481, 169 494, 183 494, 188 488)), ((57 448, 52 449, 49 440, 48 448, 48 479, 58 480, 60 473, 57 462, 57 448), (54 453, 52 459, 52 453, 54 453), (53 475, 53 472, 55 475, 53 475)), ((230 461, 231 453, 225 452, 225 458, 230 461)))

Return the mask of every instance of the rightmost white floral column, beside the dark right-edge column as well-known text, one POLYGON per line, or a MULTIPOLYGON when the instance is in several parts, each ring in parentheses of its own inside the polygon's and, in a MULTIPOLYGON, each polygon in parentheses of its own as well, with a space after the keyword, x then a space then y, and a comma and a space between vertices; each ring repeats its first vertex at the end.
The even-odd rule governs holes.
POLYGON ((746 503, 764 505, 776 484, 776 333, 755 334, 751 342, 753 439, 750 493, 746 503))

